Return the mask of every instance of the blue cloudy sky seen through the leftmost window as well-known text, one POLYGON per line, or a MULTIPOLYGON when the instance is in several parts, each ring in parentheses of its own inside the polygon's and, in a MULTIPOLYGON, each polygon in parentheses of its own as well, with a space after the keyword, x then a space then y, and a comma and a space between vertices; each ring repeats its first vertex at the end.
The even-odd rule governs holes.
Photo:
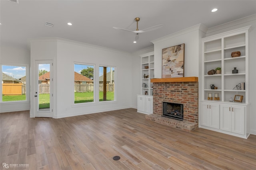
POLYGON ((13 78, 19 79, 26 76, 26 67, 24 66, 5 66, 2 65, 2 72, 13 78))

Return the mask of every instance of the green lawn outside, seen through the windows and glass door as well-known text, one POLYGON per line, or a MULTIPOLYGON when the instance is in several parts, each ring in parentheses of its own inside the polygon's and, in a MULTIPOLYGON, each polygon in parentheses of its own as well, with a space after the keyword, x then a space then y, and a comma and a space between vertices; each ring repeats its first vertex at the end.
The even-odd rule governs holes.
MULTIPOLYGON (((74 103, 93 102, 93 92, 75 92, 74 103)), ((103 92, 99 94, 100 101, 103 101, 103 92)), ((26 95, 2 96, 3 102, 26 100, 26 95)), ((107 92, 107 100, 114 100, 114 92, 107 92)), ((50 94, 39 94, 39 109, 50 108, 50 94)))

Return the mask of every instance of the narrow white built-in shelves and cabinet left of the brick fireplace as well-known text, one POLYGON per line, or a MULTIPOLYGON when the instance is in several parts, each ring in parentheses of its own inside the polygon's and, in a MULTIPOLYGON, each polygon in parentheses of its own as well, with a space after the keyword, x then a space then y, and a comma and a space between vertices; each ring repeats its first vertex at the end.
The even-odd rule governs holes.
POLYGON ((140 95, 138 95, 137 111, 145 114, 153 113, 153 83, 150 78, 154 78, 154 52, 140 55, 140 95))

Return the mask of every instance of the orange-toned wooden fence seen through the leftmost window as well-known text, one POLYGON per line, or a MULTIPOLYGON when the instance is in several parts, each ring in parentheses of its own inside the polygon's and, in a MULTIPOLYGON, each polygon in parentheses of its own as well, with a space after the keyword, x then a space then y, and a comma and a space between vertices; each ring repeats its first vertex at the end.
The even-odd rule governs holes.
POLYGON ((23 85, 22 83, 3 83, 2 94, 5 96, 26 94, 26 85, 23 85))

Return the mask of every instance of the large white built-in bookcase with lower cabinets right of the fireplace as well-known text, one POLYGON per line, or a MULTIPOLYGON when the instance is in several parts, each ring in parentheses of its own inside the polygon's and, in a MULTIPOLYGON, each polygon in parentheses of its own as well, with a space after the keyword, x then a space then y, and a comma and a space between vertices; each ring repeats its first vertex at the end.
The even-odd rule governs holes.
POLYGON ((250 26, 202 38, 202 81, 199 104, 199 127, 247 138, 250 123, 248 79, 248 30, 250 26), (231 53, 240 51, 240 57, 231 53), (220 74, 208 71, 221 67, 220 74), (238 73, 232 74, 234 67, 238 73), (244 82, 244 89, 237 84, 244 82), (211 84, 218 87, 212 89, 211 84), (209 97, 212 96, 212 100, 209 97), (219 100, 214 100, 215 95, 219 100), (242 102, 230 102, 235 95, 242 95, 242 102), (211 108, 210 108, 211 107, 211 108))

